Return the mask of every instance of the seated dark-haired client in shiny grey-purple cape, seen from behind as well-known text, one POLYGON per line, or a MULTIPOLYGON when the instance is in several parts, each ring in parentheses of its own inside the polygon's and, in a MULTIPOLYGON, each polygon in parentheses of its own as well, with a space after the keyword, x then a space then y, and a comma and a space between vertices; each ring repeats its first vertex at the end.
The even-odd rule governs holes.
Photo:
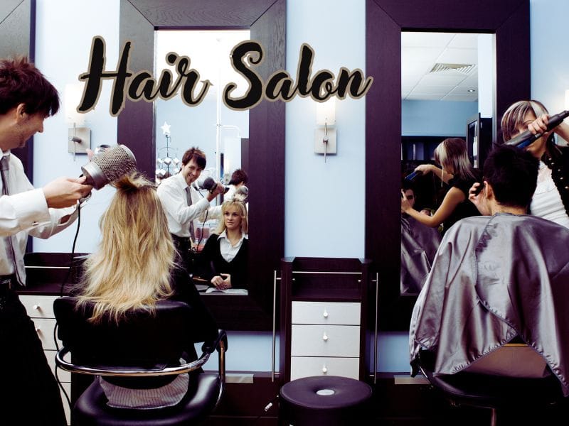
POLYGON ((511 146, 489 153, 484 190, 469 195, 487 215, 445 234, 415 303, 414 373, 421 350, 435 354, 435 374, 453 374, 519 338, 569 395, 569 230, 525 214, 537 174, 531 153, 511 146))

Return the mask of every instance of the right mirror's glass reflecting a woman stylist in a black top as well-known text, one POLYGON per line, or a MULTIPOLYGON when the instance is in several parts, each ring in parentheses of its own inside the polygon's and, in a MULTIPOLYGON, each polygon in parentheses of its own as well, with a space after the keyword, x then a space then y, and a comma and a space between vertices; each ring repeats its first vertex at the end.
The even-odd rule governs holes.
POLYGON ((442 234, 478 214, 468 189, 491 146, 494 35, 402 32, 401 46, 400 293, 410 295, 442 234))

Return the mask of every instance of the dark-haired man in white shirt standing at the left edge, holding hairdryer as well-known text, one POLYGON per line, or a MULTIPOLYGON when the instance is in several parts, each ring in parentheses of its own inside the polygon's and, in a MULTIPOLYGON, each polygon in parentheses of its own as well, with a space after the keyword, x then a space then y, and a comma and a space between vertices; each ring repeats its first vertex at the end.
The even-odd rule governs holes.
POLYGON ((33 64, 0 60, 0 421, 6 425, 67 424, 57 382, 16 290, 26 285, 28 234, 48 238, 65 229, 92 187, 85 178, 58 178, 34 189, 10 153, 42 132, 43 120, 58 109, 57 90, 33 64))

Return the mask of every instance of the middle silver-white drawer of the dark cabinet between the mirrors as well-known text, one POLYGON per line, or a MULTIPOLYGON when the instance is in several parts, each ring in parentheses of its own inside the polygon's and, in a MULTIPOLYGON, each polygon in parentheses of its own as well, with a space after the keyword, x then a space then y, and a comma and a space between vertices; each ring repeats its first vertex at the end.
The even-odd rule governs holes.
POLYGON ((359 356, 360 327, 356 325, 292 324, 292 356, 359 356))

